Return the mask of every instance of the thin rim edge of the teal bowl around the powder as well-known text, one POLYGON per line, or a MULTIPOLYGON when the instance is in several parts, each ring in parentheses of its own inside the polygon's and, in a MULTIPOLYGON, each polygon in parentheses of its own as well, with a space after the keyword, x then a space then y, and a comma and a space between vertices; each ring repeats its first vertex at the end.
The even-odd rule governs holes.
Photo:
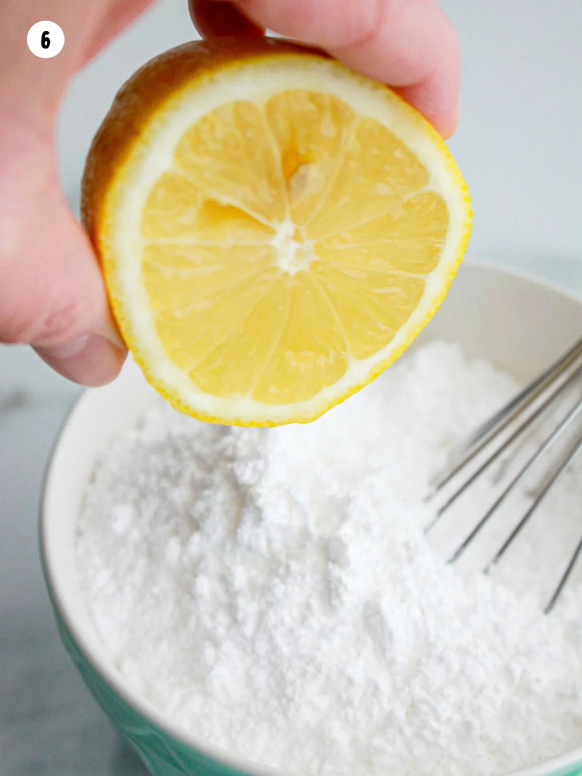
MULTIPOLYGON (((540 279, 538 276, 528 272, 507 268, 493 262, 466 260, 466 263, 487 272, 496 272, 501 275, 508 275, 515 279, 532 283, 535 286, 551 290, 553 293, 559 293, 567 299, 582 305, 582 299, 576 294, 568 293, 563 287, 553 284, 552 282, 547 282, 546 279, 540 279)), ((84 390, 81 393, 72 404, 64 422, 61 424, 57 438, 50 451, 47 469, 41 487, 39 521, 40 559, 43 567, 43 577, 45 584, 47 585, 50 601, 55 610, 55 616, 60 618, 61 624, 64 625, 67 630, 68 636, 74 643, 78 653, 83 656, 92 670, 99 675, 99 678, 108 685, 126 705, 142 715, 147 722, 152 726, 157 727, 161 733, 168 736, 169 739, 174 740, 182 747, 194 750, 202 757, 214 761, 219 766, 231 768, 238 774, 247 774, 247 776, 296 776, 296 774, 292 774, 289 771, 282 771, 279 768, 260 764, 255 760, 250 760, 246 757, 232 755, 227 752, 227 750, 223 750, 220 747, 214 747, 212 744, 198 741, 195 736, 191 736, 177 726, 174 726, 172 722, 164 718, 164 715, 147 705, 147 702, 144 702, 144 700, 140 698, 140 695, 123 685, 116 670, 114 670, 112 666, 107 665, 105 661, 99 660, 99 658, 92 653, 84 636, 75 625, 74 617, 67 605, 66 594, 64 594, 64 591, 61 591, 55 580, 54 566, 47 553, 46 530, 48 517, 46 507, 47 494, 51 487, 55 456, 61 446, 64 435, 68 433, 71 424, 74 423, 78 408, 85 402, 88 395, 89 390, 84 390)), ((539 764, 519 768, 514 771, 506 771, 504 774, 499 774, 499 776, 578 776, 578 774, 582 774, 582 745, 566 753, 550 757, 548 760, 543 760, 539 764)))

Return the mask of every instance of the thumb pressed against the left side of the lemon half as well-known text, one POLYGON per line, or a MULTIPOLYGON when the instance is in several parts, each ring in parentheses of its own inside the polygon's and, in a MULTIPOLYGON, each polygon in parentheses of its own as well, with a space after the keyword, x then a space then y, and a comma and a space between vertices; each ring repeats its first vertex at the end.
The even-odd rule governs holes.
POLYGON ((50 141, 0 140, 0 342, 32 345, 64 377, 109 383, 126 348, 99 264, 57 181, 50 141))

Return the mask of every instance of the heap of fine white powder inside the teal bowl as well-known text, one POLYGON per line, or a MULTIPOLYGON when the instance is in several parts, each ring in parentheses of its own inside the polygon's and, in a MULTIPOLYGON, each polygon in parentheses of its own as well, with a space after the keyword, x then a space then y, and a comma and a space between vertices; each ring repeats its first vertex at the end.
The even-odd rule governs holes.
POLYGON ((490 577, 422 532, 429 477, 514 388, 435 343, 307 426, 216 427, 159 400, 103 457, 78 524, 126 681, 199 739, 302 776, 484 776, 582 744, 580 576, 541 612, 582 483, 566 477, 490 577))

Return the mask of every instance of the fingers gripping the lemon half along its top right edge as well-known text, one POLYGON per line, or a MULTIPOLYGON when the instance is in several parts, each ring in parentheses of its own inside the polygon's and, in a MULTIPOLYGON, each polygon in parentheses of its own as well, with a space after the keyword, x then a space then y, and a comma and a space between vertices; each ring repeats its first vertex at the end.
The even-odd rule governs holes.
MULTIPOLYGON (((193 5, 200 18, 225 4, 193 5)), ((396 88, 444 137, 456 130, 459 42, 437 0, 238 0, 237 8, 259 26, 323 47, 396 88)))

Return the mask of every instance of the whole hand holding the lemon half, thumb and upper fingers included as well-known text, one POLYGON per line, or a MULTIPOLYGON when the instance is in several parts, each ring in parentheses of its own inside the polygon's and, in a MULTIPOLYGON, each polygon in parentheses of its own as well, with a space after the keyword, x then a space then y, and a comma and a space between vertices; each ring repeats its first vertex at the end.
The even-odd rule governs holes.
MULTIPOLYGON (((126 348, 102 275, 57 180, 54 119, 68 81, 151 0, 5 0, 0 30, 0 342, 22 342, 89 386, 120 371, 126 348), (23 45, 45 18, 64 30, 54 59, 23 45)), ((443 135, 459 113, 459 46, 436 0, 190 0, 203 35, 275 32, 329 50, 384 81, 443 135)))

